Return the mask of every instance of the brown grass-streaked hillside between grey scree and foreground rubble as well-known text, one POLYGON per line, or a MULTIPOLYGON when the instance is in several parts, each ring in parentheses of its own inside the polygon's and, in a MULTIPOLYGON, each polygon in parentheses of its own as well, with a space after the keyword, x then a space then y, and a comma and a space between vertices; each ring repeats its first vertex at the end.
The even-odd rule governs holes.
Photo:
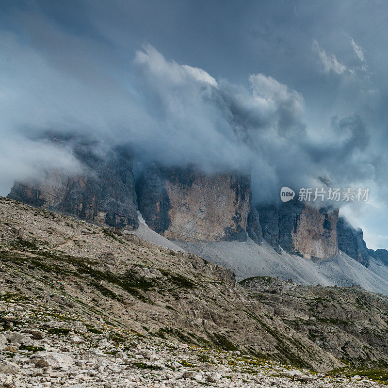
MULTIPOLYGON (((15 318, 7 318, 10 312, 3 313, 4 329, 42 330, 43 321, 59 320, 65 322, 59 328, 70 328, 86 341, 84 326, 101 318, 126 333, 179 339, 209 354, 211 349, 238 351, 317 371, 343 368, 345 362, 363 368, 388 365, 385 296, 291 285, 286 291, 292 293, 283 291, 284 299, 275 302, 273 290, 261 294, 251 284, 244 289, 230 270, 198 256, 4 198, 0 239, 1 298, 33 306, 33 314, 16 311, 15 318), (322 320, 313 311, 318 307, 322 320), (78 329, 74 316, 84 322, 78 329)), ((70 339, 70 332, 52 328, 50 334, 70 339)), ((86 363, 88 355, 80 356, 86 363)))

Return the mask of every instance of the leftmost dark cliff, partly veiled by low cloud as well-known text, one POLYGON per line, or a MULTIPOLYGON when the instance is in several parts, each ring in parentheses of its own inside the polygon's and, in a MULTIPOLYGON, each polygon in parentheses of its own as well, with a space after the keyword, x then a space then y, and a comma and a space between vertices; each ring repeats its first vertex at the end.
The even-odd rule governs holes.
POLYGON ((75 155, 84 168, 78 174, 47 171, 41 179, 15 182, 8 198, 97 224, 134 229, 138 226, 132 158, 115 149, 99 158, 86 147, 75 155))

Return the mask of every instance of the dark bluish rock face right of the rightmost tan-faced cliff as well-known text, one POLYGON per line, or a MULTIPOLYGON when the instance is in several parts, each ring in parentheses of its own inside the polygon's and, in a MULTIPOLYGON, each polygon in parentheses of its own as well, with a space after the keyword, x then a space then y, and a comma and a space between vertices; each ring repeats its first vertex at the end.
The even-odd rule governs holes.
MULTIPOLYGON (((351 226, 343 217, 337 223, 338 248, 365 267, 369 266, 369 253, 363 240, 362 230, 351 226)), ((373 256, 373 255, 371 255, 373 256)), ((383 261, 383 260, 382 260, 383 261)))

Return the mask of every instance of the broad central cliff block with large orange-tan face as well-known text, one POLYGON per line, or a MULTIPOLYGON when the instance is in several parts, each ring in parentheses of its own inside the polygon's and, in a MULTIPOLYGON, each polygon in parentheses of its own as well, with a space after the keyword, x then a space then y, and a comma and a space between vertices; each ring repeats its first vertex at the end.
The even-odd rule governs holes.
POLYGON ((186 242, 245 241, 249 199, 250 179, 235 173, 153 167, 138 185, 139 210, 147 225, 186 242))

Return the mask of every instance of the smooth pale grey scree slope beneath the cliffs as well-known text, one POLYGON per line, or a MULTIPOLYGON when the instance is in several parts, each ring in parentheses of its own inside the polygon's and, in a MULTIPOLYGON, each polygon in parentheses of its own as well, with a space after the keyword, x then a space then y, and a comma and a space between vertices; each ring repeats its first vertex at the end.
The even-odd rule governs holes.
POLYGON ((175 244, 187 252, 232 269, 239 281, 252 276, 279 276, 304 285, 360 285, 365 290, 388 295, 388 267, 372 257, 366 268, 342 252, 329 259, 306 259, 290 255, 281 248, 277 253, 265 240, 257 245, 250 238, 246 242, 176 241, 175 244))

